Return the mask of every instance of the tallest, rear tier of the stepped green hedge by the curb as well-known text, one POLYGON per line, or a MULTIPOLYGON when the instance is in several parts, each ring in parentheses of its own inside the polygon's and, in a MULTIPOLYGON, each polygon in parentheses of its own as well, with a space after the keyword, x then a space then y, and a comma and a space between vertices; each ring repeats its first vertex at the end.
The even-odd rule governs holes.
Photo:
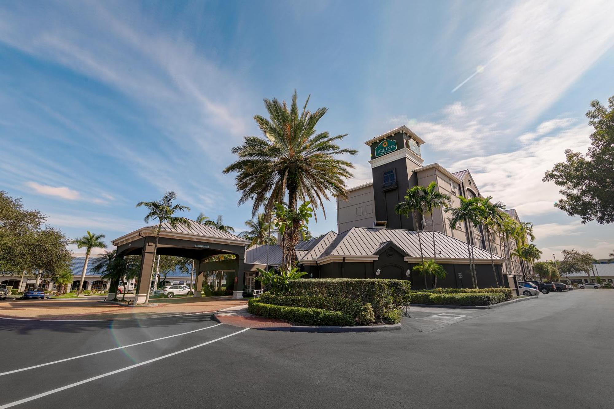
POLYGON ((391 310, 410 302, 411 282, 407 280, 364 278, 311 278, 290 280, 288 295, 346 298, 371 304, 376 321, 391 310))

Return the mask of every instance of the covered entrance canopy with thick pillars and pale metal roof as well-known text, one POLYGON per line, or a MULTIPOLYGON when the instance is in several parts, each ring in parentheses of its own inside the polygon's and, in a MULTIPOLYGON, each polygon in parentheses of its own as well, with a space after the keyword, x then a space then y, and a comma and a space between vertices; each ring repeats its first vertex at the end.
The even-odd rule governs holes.
MULTIPOLYGON (((245 250, 249 241, 194 220, 190 220, 190 222, 191 227, 178 226, 173 228, 168 223, 162 224, 156 254, 188 257, 196 261, 194 297, 201 297, 203 289, 203 271, 205 270, 201 268, 201 263, 214 255, 234 254, 235 259, 227 260, 231 262, 231 267, 236 273, 233 297, 242 298, 245 250)), ((134 297, 134 303, 137 304, 145 302, 147 292, 150 290, 150 275, 155 262, 153 247, 156 230, 157 225, 147 226, 112 241, 113 245, 117 246, 118 257, 141 255, 141 273, 134 297)), ((111 298, 112 294, 109 295, 111 298)))

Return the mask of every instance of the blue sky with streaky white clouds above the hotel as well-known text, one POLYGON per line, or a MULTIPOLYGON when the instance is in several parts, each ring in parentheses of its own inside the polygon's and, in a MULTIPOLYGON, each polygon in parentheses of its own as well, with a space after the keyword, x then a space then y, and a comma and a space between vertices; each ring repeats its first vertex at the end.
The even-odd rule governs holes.
MULTIPOLYGON (((606 257, 612 227, 554 209, 541 179, 586 150, 589 103, 614 94, 612 15, 611 1, 1 2, 0 189, 71 237, 134 230, 134 204, 166 190, 241 231, 251 205, 221 170, 258 134, 262 98, 296 89, 359 149, 349 185, 370 180, 363 141, 405 124, 425 163, 469 168, 533 221, 545 254, 606 257)), ((326 209, 316 233, 336 229, 326 209)))

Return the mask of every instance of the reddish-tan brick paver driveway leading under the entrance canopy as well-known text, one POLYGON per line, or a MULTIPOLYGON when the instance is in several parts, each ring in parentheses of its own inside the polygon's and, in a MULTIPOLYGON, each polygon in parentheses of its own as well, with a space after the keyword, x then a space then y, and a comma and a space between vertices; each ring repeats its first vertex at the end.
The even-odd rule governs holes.
POLYGON ((92 300, 9 300, 0 302, 0 317, 37 320, 133 319, 210 313, 247 303, 246 300, 230 297, 163 298, 152 302, 158 306, 128 308, 92 300))

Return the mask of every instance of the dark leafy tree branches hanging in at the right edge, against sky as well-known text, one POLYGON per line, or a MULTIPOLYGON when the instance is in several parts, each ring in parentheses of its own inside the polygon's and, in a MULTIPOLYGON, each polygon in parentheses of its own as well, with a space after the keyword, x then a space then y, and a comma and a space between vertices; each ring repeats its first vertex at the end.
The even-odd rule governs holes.
POLYGON ((608 98, 608 107, 597 100, 591 107, 586 117, 594 132, 586 157, 565 150, 565 162, 547 171, 543 181, 562 187, 563 198, 554 203, 556 208, 580 216, 582 223, 609 224, 614 222, 614 96, 608 98))

